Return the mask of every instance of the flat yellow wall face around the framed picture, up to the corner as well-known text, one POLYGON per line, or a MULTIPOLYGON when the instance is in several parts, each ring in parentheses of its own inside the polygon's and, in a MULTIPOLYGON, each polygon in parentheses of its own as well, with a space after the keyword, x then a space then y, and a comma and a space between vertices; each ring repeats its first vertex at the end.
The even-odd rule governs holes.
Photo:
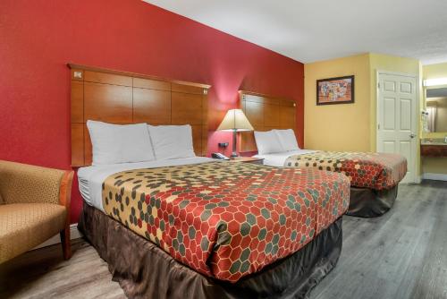
POLYGON ((370 144, 369 55, 304 65, 306 149, 368 151, 370 144), (316 80, 355 75, 354 104, 316 106, 316 80))

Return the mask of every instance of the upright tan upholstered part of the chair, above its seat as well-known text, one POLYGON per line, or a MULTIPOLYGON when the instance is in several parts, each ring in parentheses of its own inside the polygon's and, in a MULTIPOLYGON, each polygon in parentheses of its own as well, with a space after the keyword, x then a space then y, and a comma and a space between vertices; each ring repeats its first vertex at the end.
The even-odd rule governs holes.
POLYGON ((47 202, 70 206, 72 171, 0 160, 0 193, 4 203, 47 202))

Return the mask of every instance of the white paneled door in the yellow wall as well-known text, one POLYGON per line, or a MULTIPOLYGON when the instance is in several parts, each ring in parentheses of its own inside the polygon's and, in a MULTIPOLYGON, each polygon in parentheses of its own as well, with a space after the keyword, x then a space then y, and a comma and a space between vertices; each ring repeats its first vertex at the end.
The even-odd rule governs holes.
POLYGON ((416 182, 416 75, 377 73, 377 151, 400 153, 408 162, 403 183, 416 182))

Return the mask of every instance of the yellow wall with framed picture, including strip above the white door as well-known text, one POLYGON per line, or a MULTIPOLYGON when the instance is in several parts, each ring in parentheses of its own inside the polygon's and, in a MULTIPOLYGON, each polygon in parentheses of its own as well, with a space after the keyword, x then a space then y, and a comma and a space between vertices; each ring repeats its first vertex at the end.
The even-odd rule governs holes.
POLYGON ((375 151, 376 71, 414 73, 419 61, 367 53, 304 65, 307 149, 375 151), (316 80, 355 75, 355 103, 316 106, 316 80))

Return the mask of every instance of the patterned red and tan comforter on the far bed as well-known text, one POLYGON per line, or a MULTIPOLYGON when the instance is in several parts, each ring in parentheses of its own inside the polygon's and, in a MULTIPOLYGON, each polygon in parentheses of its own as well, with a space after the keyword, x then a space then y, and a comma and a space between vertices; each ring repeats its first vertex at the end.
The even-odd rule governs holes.
POLYGON ((284 167, 316 168, 340 172, 354 187, 390 189, 407 174, 407 159, 398 154, 316 151, 293 155, 284 167))

